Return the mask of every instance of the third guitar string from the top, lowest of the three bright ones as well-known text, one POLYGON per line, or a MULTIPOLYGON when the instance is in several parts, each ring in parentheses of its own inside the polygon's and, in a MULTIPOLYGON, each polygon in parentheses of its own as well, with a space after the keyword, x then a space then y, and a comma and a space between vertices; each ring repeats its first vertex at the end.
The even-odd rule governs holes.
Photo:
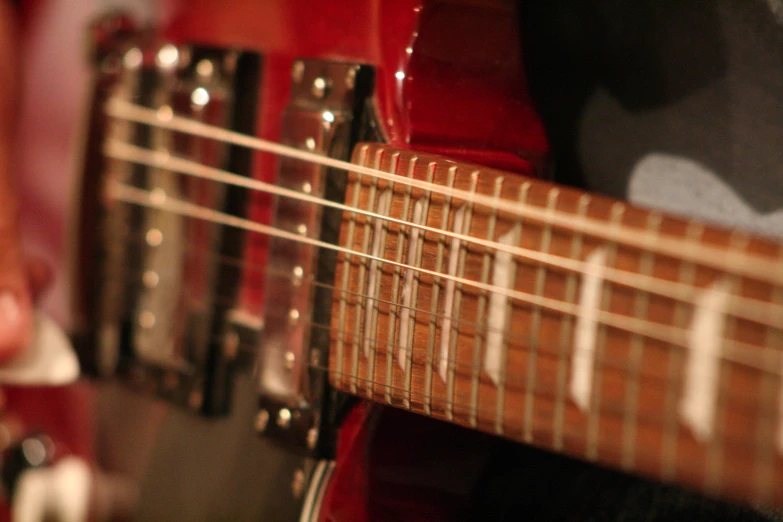
MULTIPOLYGON (((170 197, 163 199, 157 199, 154 192, 138 189, 129 185, 125 185, 119 182, 112 182, 108 184, 109 196, 112 199, 124 201, 126 203, 136 204, 148 208, 171 212, 173 214, 184 215, 194 217, 198 219, 206 219, 211 222, 220 223, 222 225, 231 226, 251 232, 257 232, 281 239, 293 240, 302 244, 330 249, 338 253, 346 255, 353 255, 362 257, 372 261, 379 262, 381 264, 388 264, 393 266, 399 266, 408 270, 416 271, 421 274, 426 274, 441 279, 453 280, 457 283, 473 286, 480 290, 495 292, 506 295, 510 299, 516 301, 525 302, 541 308, 547 308, 551 311, 560 312, 562 314, 578 316, 580 313, 579 305, 574 303, 568 303, 558 301, 548 297, 528 294, 517 290, 510 290, 507 288, 496 287, 486 283, 480 283, 464 277, 453 276, 450 274, 443 274, 434 270, 428 270, 421 267, 406 265, 405 263, 399 263, 391 261, 371 254, 358 252, 346 247, 326 243, 317 239, 312 239, 304 236, 297 235, 293 232, 277 229, 269 225, 262 223, 256 223, 247 219, 239 218, 217 212, 207 207, 202 207, 187 201, 176 200, 170 197)), ((679 328, 676 326, 664 325, 661 323, 655 323, 645 319, 639 319, 636 317, 629 317, 616 312, 610 312, 607 310, 598 310, 597 321, 600 324, 611 326, 623 331, 627 331, 633 334, 641 335, 650 339, 655 339, 665 343, 675 344, 683 348, 687 348, 687 334, 688 330, 679 328)), ((740 341, 726 340, 726 344, 734 345, 737 348, 756 349, 753 345, 743 343, 740 341)))

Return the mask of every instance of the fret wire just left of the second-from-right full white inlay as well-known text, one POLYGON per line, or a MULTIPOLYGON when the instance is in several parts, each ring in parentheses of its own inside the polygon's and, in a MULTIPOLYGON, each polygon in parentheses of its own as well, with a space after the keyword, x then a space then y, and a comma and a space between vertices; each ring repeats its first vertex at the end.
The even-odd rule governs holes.
MULTIPOLYGON (((577 215, 585 216, 587 214, 587 207, 590 205, 590 196, 583 194, 579 198, 579 204, 577 206, 577 215)), ((571 236, 571 257, 579 258, 582 255, 582 234, 576 233, 571 236)), ((576 274, 569 272, 566 280, 565 300, 569 303, 575 303, 576 299, 576 274)), ((554 428, 553 428, 553 446, 556 450, 563 448, 563 422, 565 417, 566 408, 566 379, 568 377, 568 353, 572 343, 572 337, 574 332, 574 318, 572 316, 565 316, 561 319, 560 323, 560 349, 559 360, 557 366, 557 382, 558 382, 558 394, 555 401, 555 415, 554 415, 554 428)))

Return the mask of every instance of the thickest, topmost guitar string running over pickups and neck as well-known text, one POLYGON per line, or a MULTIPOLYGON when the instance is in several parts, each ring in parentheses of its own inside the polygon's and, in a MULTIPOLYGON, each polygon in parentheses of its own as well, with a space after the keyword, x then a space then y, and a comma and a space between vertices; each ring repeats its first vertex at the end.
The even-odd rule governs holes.
POLYGON ((276 156, 303 160, 307 163, 314 163, 346 172, 368 175, 375 179, 393 182, 397 185, 419 188, 431 193, 442 194, 453 199, 470 201, 474 205, 477 204, 490 209, 497 209, 519 217, 551 223, 553 226, 565 228, 572 232, 599 237, 607 241, 618 244, 622 243, 625 246, 632 246, 641 250, 653 251, 674 259, 709 266, 724 272, 740 273, 744 276, 775 285, 783 284, 783 272, 780 271, 778 263, 749 252, 732 252, 733 255, 727 256, 727 252, 723 248, 701 243, 693 245, 680 238, 659 236, 656 237, 655 240, 652 240, 651 238, 646 237, 646 234, 640 234, 638 230, 625 226, 607 227, 601 220, 586 216, 576 217, 560 211, 547 212, 544 209, 536 208, 534 206, 520 205, 515 201, 498 199, 467 190, 445 187, 427 181, 399 176, 397 174, 329 158, 314 152, 304 151, 295 147, 289 147, 273 141, 256 138, 177 116, 170 110, 165 111, 164 115, 158 110, 136 105, 115 97, 111 97, 107 100, 105 112, 107 116, 115 119, 141 123, 161 129, 174 130, 193 136, 213 139, 222 143, 271 153, 276 156))

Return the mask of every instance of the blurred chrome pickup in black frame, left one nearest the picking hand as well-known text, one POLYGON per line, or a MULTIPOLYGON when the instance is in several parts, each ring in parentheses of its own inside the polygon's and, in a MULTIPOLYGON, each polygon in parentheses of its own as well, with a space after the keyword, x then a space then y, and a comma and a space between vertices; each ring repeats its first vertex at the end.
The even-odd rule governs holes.
POLYGON ((103 106, 109 98, 127 100, 156 109, 161 122, 177 114, 252 133, 260 58, 161 45, 148 34, 125 29, 115 37, 100 34, 92 52, 98 67, 83 193, 88 199, 101 193, 104 198, 94 198, 100 205, 85 206, 79 226, 78 258, 85 259, 74 285, 84 289, 78 310, 80 349, 99 374, 116 372, 188 409, 221 414, 229 408, 234 371, 249 362, 244 347, 252 347, 259 330, 232 322, 240 267, 222 262, 241 257, 244 234, 113 201, 110 187, 119 181, 149 190, 153 205, 182 199, 238 216, 245 213, 247 190, 112 159, 104 155, 103 143, 130 143, 164 160, 184 157, 244 175, 249 175, 252 153, 154 125, 108 119, 103 106))

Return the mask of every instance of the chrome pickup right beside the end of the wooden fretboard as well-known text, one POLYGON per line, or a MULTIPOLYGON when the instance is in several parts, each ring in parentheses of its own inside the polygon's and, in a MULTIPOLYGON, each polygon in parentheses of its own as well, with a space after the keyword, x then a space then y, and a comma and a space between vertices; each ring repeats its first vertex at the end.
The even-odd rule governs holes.
MULTIPOLYGON (((293 64, 291 78, 291 102, 281 141, 348 159, 372 88, 372 71, 353 64, 299 60, 293 64)), ((303 194, 342 201, 345 176, 319 165, 281 159, 277 183, 303 194)), ((311 203, 278 198, 274 225, 300 236, 336 242, 339 217, 311 203)), ((334 258, 329 252, 277 239, 271 241, 269 252, 258 384, 260 410, 276 422, 259 431, 314 455, 319 453, 319 441, 331 438, 320 436, 329 417, 321 411, 326 376, 322 369, 309 366, 313 354, 320 360, 320 354, 328 351, 324 345, 328 331, 313 325, 328 324, 331 296, 313 283, 321 277, 325 285, 333 284, 328 273, 333 266, 328 266, 334 258)))

